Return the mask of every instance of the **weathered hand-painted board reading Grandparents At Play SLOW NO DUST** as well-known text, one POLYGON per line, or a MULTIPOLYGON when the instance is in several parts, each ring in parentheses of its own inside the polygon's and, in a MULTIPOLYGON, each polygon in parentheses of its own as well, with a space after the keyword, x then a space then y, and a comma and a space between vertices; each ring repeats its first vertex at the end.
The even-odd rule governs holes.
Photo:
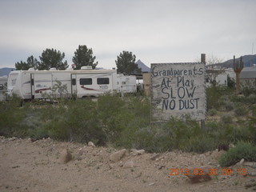
POLYGON ((205 65, 190 63, 151 64, 151 120, 171 116, 196 121, 206 119, 205 65))

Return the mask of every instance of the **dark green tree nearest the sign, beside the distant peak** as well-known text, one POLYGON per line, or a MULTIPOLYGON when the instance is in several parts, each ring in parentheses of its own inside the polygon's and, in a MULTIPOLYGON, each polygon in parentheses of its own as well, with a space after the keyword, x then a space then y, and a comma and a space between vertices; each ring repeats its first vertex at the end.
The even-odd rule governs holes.
POLYGON ((132 52, 123 50, 119 54, 118 59, 115 61, 118 69, 118 73, 122 74, 141 74, 142 69, 138 69, 138 65, 135 63, 136 56, 132 52))

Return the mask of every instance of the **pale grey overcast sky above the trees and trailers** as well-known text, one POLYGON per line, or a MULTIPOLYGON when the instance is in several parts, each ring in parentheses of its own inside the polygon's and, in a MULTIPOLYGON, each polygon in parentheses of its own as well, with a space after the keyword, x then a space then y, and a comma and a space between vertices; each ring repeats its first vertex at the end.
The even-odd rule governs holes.
POLYGON ((47 48, 71 65, 78 45, 107 69, 122 50, 147 66, 256 53, 255 0, 1 0, 0 23, 0 68, 47 48))

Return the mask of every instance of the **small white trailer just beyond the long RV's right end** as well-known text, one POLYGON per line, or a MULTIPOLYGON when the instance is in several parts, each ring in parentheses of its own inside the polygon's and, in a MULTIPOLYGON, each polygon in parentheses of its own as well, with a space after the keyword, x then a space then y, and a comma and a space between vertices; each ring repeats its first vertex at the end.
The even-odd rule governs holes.
POLYGON ((118 93, 135 93, 136 91, 135 75, 118 74, 118 93))

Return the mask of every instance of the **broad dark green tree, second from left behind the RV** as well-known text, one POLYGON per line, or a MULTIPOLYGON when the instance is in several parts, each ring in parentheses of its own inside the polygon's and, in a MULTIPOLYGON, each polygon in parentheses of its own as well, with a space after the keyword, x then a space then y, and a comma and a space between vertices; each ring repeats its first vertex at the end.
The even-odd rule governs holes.
POLYGON ((66 70, 68 67, 67 62, 62 62, 65 58, 65 54, 59 50, 46 49, 42 52, 42 56, 39 57, 41 63, 38 65, 38 70, 50 70, 55 67, 57 70, 66 70))

